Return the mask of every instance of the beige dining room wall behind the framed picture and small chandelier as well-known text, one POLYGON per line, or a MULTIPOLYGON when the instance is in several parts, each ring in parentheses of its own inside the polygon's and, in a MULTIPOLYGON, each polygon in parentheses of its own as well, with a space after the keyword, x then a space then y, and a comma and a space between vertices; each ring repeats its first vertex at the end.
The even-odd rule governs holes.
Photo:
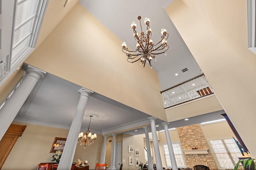
MULTIPOLYGON (((50 153, 50 150, 55 137, 66 138, 68 135, 68 130, 66 129, 28 123, 13 123, 27 125, 27 127, 12 148, 2 170, 20 169, 20 166, 26 170, 36 170, 39 163, 51 162, 51 156, 54 153, 50 153)), ((77 159, 80 158, 82 161, 88 160, 89 166, 94 167, 96 160, 100 159, 102 138, 102 135, 98 135, 94 144, 86 147, 86 149, 83 149, 78 144, 73 162, 77 162, 77 159)))

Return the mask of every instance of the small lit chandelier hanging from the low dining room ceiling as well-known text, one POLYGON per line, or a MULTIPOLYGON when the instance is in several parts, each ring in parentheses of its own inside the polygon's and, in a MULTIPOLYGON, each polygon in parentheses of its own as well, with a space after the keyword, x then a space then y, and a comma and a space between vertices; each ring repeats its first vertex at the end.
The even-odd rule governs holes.
MULTIPOLYGON (((91 123, 91 119, 92 119, 92 115, 90 115, 90 123, 91 123)), ((90 123, 89 126, 87 128, 87 131, 85 133, 80 132, 79 136, 78 136, 78 142, 80 142, 80 145, 84 146, 84 149, 86 146, 90 146, 92 143, 94 143, 95 139, 97 138, 97 134, 94 133, 92 135, 92 133, 90 133, 90 123)))

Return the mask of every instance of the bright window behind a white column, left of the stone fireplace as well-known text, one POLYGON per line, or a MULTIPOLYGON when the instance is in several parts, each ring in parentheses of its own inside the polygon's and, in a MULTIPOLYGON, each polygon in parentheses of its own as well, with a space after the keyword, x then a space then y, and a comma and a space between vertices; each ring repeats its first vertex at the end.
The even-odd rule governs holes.
MULTIPOLYGON (((162 148, 163 148, 163 153, 164 153, 165 165, 167 167, 172 167, 171 160, 170 160, 170 154, 169 154, 169 150, 168 150, 168 145, 163 144, 162 148)), ((185 165, 183 153, 182 153, 182 150, 181 150, 181 147, 180 147, 180 143, 179 142, 172 143, 172 148, 173 148, 173 152, 174 152, 174 156, 175 156, 177 166, 179 168, 185 168, 186 165, 185 165)))

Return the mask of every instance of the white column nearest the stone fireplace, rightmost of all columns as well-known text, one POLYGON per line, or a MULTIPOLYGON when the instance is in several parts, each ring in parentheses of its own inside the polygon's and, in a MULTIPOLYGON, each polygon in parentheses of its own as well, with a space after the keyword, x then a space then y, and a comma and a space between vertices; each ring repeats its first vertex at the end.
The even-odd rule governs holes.
POLYGON ((164 132, 165 132, 166 141, 167 141, 167 145, 168 145, 170 160, 172 163, 172 170, 178 170, 178 166, 177 166, 173 148, 172 148, 172 141, 171 141, 170 134, 169 134, 168 124, 169 123, 167 123, 167 122, 162 123, 162 125, 164 126, 164 132))

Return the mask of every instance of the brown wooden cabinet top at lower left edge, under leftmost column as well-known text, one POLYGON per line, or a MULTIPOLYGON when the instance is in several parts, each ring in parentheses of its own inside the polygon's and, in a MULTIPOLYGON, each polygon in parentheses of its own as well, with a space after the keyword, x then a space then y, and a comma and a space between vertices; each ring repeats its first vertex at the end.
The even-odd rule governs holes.
POLYGON ((7 129, 4 137, 0 141, 0 169, 2 168, 18 137, 22 135, 26 127, 27 125, 11 124, 7 129))

